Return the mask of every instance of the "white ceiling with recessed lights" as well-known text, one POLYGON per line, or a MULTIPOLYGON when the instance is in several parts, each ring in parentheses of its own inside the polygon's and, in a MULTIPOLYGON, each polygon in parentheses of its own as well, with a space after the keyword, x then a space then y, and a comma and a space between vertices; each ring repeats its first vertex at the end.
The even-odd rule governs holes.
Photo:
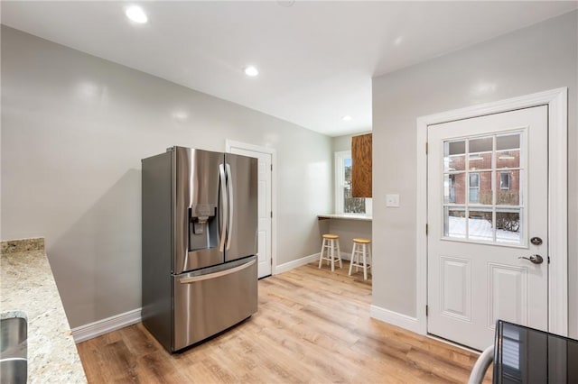
POLYGON ((371 78, 578 2, 2 1, 2 23, 339 136, 371 129, 371 78), (257 78, 242 69, 255 65, 257 78), (349 114, 349 122, 341 120, 349 114))

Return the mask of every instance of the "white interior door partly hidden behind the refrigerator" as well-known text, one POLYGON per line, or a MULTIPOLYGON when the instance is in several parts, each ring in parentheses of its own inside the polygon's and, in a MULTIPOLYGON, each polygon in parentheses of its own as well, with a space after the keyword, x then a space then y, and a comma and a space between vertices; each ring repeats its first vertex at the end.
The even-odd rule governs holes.
POLYGON ((271 153, 261 151, 249 151, 238 147, 231 147, 231 153, 245 155, 258 160, 258 277, 263 278, 271 275, 271 153))

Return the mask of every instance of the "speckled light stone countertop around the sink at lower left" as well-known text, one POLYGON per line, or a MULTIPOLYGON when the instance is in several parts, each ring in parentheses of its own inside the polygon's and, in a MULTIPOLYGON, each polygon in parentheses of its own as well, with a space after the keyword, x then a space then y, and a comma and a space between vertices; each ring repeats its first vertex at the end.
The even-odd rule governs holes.
POLYGON ((86 383, 43 242, 33 251, 2 245, 0 312, 28 318, 28 383, 86 383))

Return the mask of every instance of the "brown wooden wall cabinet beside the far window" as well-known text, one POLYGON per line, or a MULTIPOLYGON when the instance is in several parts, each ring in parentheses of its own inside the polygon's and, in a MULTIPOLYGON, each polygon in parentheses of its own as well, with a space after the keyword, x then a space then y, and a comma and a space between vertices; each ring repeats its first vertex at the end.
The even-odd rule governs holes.
POLYGON ((371 197, 372 134, 351 138, 351 196, 371 197))

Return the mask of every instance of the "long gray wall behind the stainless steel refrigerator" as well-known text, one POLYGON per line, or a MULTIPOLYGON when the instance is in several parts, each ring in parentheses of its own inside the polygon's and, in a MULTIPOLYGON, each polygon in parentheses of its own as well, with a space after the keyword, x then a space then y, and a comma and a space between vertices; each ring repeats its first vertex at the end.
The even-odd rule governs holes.
POLYGON ((318 252, 331 138, 3 26, 2 239, 46 238, 72 327, 141 306, 140 160, 226 139, 277 151, 277 263, 318 252))

